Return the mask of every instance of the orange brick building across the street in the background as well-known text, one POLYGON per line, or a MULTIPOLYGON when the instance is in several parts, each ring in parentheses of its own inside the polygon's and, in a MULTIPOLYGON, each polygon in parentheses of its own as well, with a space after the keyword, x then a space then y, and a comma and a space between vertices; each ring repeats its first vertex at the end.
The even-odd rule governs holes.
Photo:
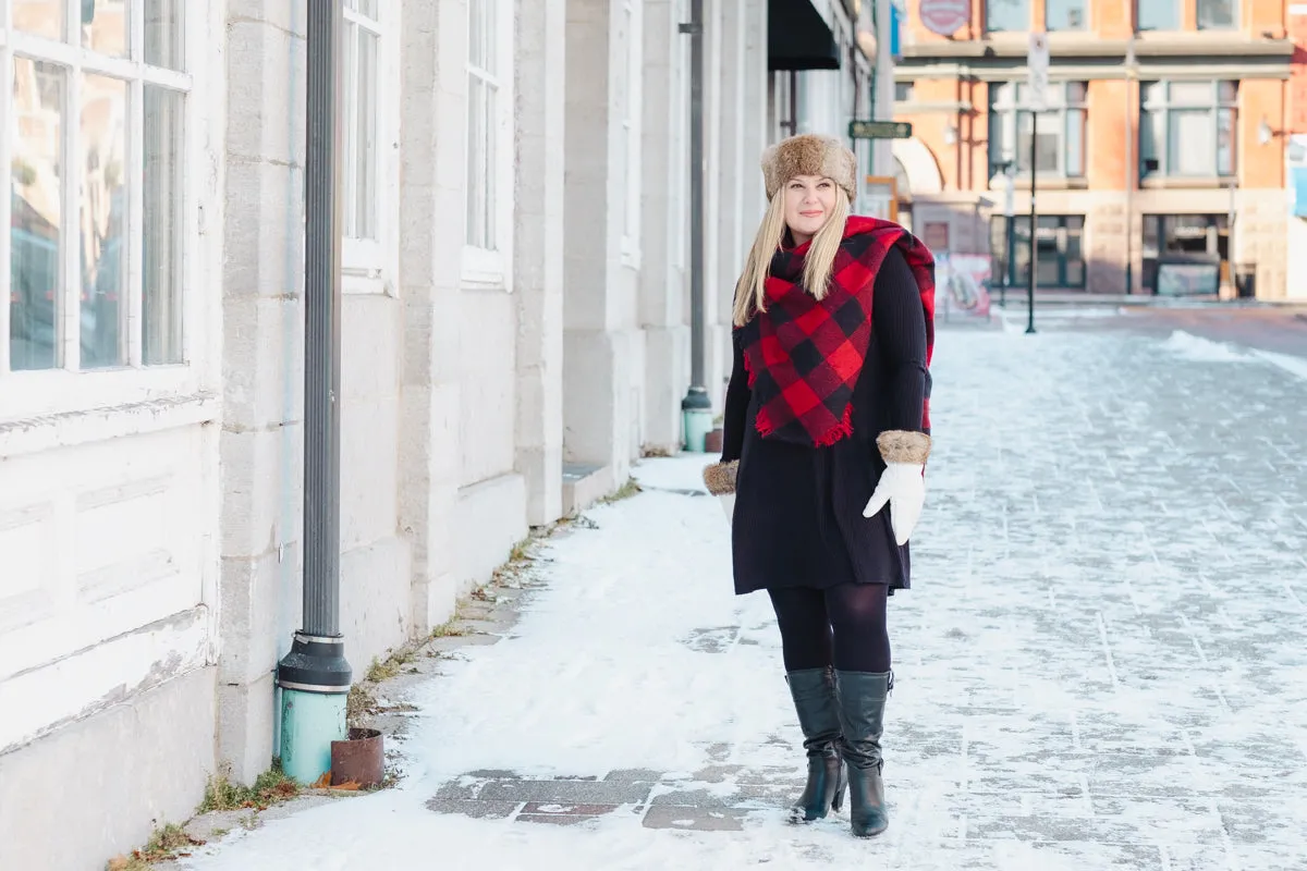
POLYGON ((1026 52, 1029 34, 1047 31, 1039 286, 1201 294, 1219 281, 1226 295, 1283 298, 1293 1, 906 0, 895 118, 914 137, 894 144, 904 223, 932 247, 993 253, 995 278, 1025 287, 1026 52), (923 12, 933 30, 957 29, 935 33, 923 12))

